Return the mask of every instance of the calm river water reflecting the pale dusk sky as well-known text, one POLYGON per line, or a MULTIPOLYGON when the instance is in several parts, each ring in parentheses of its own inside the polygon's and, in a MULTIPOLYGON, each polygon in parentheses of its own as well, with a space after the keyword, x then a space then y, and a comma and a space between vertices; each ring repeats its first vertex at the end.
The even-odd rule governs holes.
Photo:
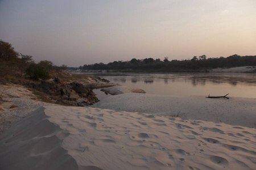
MULTIPOLYGON (((256 98, 254 73, 85 73, 121 86, 141 88, 148 94, 256 98)), ((104 92, 95 90, 102 100, 104 92)))

